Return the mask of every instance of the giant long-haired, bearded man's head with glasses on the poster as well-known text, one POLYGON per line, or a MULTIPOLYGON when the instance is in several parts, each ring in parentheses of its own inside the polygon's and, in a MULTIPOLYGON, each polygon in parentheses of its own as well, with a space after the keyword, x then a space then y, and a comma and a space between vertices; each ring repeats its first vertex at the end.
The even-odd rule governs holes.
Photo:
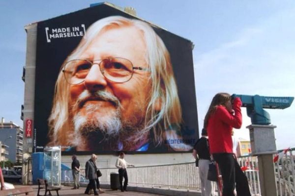
POLYGON ((76 151, 189 150, 170 55, 145 22, 92 24, 64 61, 49 118, 49 145, 76 151), (172 128, 173 127, 173 128, 172 128))

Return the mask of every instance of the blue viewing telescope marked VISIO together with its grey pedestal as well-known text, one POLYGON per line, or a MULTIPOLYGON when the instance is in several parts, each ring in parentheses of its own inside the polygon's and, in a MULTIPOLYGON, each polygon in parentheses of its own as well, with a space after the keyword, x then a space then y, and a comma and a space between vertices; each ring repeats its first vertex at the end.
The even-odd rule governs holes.
POLYGON ((257 155, 259 179, 262 196, 277 196, 273 154, 277 153, 274 137, 275 125, 270 125, 270 116, 266 109, 285 109, 290 107, 294 97, 266 97, 249 95, 232 95, 239 97, 242 107, 247 108, 251 125, 247 126, 250 133, 251 154, 257 155))

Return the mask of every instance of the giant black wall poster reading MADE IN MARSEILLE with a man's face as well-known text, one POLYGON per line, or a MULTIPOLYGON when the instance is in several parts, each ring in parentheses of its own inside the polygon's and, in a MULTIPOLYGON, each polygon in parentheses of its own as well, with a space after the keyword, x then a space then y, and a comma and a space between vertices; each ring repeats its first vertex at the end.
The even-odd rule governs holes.
POLYGON ((100 4, 39 22, 36 47, 36 151, 192 149, 199 132, 191 41, 100 4))

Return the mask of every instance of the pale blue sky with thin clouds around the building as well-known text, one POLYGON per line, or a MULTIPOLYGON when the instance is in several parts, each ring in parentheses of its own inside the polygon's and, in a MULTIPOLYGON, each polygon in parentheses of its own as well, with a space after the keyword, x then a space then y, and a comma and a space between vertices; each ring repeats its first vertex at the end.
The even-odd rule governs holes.
MULTIPOLYGON (((0 0, 0 117, 20 126, 24 103, 25 25, 89 7, 98 0, 0 0)), ((109 0, 191 40, 199 129, 216 93, 295 96, 294 0, 109 0)), ((295 103, 268 109, 277 149, 295 147, 295 103)), ((249 139, 242 109, 237 137, 249 139)))

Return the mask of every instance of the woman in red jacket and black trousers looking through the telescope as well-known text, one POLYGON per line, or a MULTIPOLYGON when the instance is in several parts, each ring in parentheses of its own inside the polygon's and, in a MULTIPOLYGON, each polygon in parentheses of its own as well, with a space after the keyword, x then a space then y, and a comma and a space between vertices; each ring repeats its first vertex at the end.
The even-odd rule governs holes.
POLYGON ((207 128, 210 154, 218 163, 223 181, 223 196, 251 196, 246 175, 241 171, 234 154, 232 129, 242 125, 242 102, 227 93, 214 96, 207 111, 204 127, 207 128))

